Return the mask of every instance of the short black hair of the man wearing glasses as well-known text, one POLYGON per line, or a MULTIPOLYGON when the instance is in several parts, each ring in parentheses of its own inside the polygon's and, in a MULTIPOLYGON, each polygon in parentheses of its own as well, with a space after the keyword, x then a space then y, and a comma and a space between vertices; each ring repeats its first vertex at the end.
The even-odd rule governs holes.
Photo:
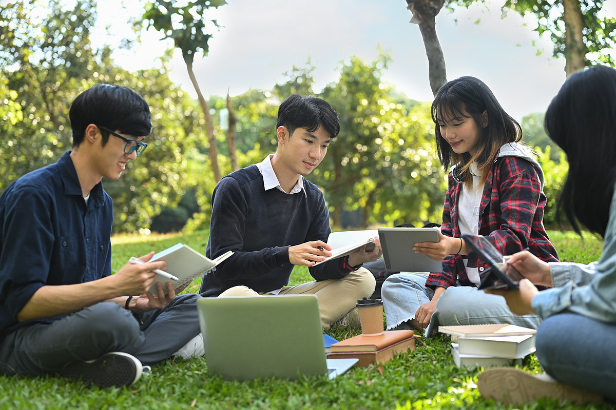
MULTIPOLYGON (((121 85, 98 84, 79 94, 69 111, 73 129, 73 147, 83 141, 86 127, 102 125, 131 136, 146 136, 152 132, 150 107, 144 98, 121 85)), ((103 145, 109 133, 100 130, 103 145)))

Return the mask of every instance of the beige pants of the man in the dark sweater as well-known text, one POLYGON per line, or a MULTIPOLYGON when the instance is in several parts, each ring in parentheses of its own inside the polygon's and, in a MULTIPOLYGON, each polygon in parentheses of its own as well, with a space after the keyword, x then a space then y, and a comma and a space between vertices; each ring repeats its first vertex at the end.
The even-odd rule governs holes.
MULTIPOLYGON (((302 283, 296 286, 285 286, 278 294, 311 293, 318 298, 318 310, 321 314, 321 326, 329 329, 333 323, 340 320, 355 307, 358 299, 370 298, 375 291, 375 277, 368 269, 360 267, 341 279, 328 279, 302 283)), ((222 292, 218 297, 225 296, 259 296, 247 286, 233 286, 222 292)))

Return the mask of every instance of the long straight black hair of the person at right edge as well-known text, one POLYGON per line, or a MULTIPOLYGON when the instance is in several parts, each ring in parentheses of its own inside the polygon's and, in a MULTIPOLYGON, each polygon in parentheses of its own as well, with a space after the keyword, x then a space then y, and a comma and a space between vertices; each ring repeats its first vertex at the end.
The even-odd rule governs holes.
POLYGON ((557 200, 575 232, 606 233, 616 183, 616 70, 594 66, 569 77, 545 113, 545 130, 567 154, 557 200))

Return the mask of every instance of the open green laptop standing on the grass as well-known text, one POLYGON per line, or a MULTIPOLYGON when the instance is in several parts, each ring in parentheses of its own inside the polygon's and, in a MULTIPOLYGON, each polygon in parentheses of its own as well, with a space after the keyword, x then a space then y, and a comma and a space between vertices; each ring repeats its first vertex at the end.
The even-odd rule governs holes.
POLYGON ((197 301, 208 371, 226 380, 345 373, 357 359, 326 359, 313 294, 197 301))

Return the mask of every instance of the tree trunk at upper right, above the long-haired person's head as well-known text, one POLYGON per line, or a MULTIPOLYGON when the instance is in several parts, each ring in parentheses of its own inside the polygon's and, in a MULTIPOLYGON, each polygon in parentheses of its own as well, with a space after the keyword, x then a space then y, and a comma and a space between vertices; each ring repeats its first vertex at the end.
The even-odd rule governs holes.
POLYGON ((562 7, 562 21, 565 23, 565 73, 569 78, 586 66, 584 18, 578 0, 563 0, 562 7))

